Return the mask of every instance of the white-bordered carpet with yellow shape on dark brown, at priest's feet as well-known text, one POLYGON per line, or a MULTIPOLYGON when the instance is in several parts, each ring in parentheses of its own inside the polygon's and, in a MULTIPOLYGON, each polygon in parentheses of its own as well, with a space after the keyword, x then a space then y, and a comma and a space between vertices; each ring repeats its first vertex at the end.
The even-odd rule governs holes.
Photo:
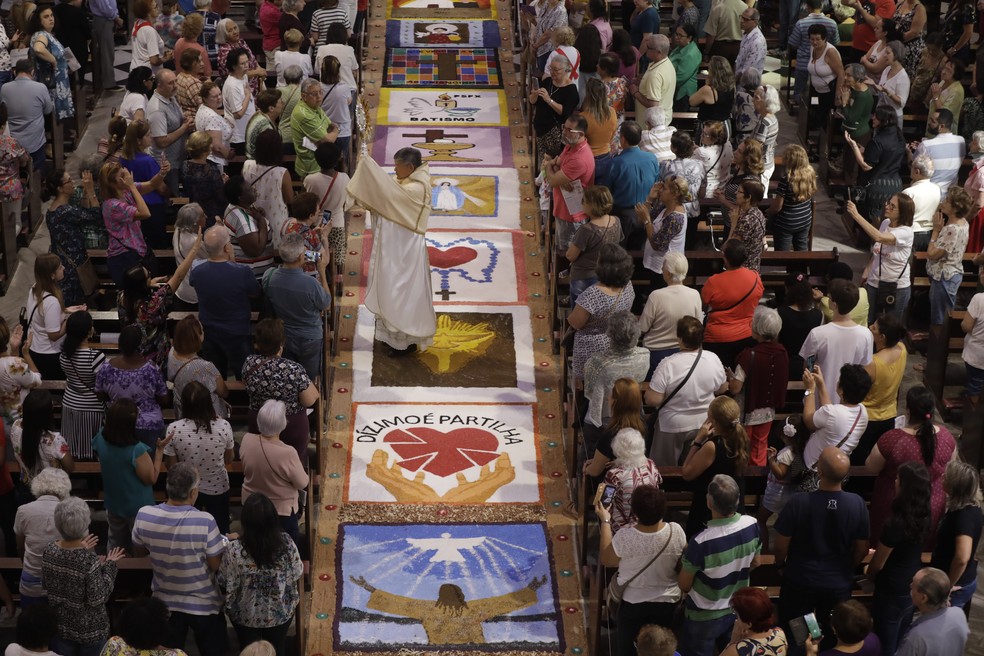
POLYGON ((393 358, 374 339, 375 316, 359 309, 352 353, 355 401, 536 399, 529 308, 454 305, 437 310, 434 343, 425 351, 393 358))

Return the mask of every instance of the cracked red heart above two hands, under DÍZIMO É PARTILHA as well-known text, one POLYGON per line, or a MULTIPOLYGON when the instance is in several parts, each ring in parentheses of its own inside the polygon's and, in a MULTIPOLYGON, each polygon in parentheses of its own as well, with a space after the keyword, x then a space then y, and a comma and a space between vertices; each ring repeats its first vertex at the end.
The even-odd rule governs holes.
POLYGON ((403 458, 404 469, 423 469, 436 476, 451 476, 487 465, 499 457, 499 440, 480 428, 458 428, 447 433, 417 426, 391 431, 383 442, 403 458))

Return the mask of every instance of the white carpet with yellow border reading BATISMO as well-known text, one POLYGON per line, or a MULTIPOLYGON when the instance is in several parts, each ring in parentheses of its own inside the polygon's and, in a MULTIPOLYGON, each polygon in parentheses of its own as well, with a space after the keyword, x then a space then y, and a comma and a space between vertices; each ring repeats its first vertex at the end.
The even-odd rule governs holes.
POLYGON ((381 89, 380 125, 507 125, 504 91, 381 89))

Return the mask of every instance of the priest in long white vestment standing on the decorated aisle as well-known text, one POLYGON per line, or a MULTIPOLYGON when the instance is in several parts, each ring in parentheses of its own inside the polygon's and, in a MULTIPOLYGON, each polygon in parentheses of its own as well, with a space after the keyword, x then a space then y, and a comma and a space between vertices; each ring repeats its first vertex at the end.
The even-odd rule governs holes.
POLYGON ((393 159, 395 180, 371 158, 363 157, 348 194, 373 218, 366 307, 376 315, 376 339, 408 352, 426 349, 437 331, 424 240, 431 183, 416 148, 401 148, 393 159))

